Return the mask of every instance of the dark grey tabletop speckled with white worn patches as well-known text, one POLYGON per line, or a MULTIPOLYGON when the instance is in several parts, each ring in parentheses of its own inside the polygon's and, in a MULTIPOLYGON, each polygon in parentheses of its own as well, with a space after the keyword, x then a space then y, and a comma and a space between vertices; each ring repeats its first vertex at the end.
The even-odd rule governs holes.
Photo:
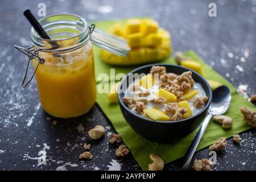
MULTIPOLYGON (((39 2, 46 3, 47 15, 73 13, 92 21, 152 16, 171 32, 175 51, 195 50, 234 86, 247 87, 249 96, 256 92, 255 0, 1 1, 0 169, 108 170, 108 166, 140 169, 131 154, 119 164, 110 164, 117 159, 115 146, 108 144, 107 137, 102 141, 88 141, 86 133, 96 124, 105 126, 107 133, 114 132, 98 106, 73 121, 61 121, 40 107, 35 81, 28 88, 21 88, 26 57, 15 51, 13 45, 30 46, 30 25, 22 13, 27 8, 38 11, 39 2), (210 2, 217 4, 217 17, 208 16, 210 2), (77 128, 80 124, 83 127, 77 128), (79 133, 82 128, 84 131, 79 133), (84 142, 92 144, 94 159, 91 161, 78 159, 84 142)), ((243 133, 241 146, 229 139, 225 151, 218 153, 214 169, 255 170, 255 135, 255 129, 243 133)), ((195 158, 208 158, 207 150, 197 152, 195 158)), ((173 162, 165 169, 176 169, 178 164, 179 161, 173 162)))

